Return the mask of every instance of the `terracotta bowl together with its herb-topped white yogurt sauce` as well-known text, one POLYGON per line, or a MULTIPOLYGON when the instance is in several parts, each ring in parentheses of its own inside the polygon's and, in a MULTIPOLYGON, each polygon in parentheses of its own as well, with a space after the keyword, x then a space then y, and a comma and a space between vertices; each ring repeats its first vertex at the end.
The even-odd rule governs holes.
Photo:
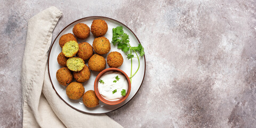
POLYGON ((123 70, 107 68, 95 78, 94 91, 103 103, 117 105, 129 97, 131 81, 123 70))

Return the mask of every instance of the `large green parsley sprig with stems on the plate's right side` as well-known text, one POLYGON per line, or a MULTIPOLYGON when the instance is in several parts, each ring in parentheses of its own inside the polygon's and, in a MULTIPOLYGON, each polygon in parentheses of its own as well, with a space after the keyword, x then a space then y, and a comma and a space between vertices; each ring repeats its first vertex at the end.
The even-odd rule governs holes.
POLYGON ((111 43, 113 43, 114 46, 117 44, 117 48, 121 49, 127 55, 127 59, 131 59, 131 76, 129 78, 132 81, 132 77, 138 72, 140 68, 139 57, 142 57, 145 52, 141 44, 139 44, 137 47, 132 47, 129 42, 129 35, 124 33, 122 26, 113 28, 113 37, 111 43), (134 55, 132 54, 133 52, 136 54, 137 57, 134 57, 134 55), (137 52, 139 52, 140 55, 138 55, 137 52), (132 58, 137 58, 139 63, 138 69, 134 74, 132 74, 132 58))

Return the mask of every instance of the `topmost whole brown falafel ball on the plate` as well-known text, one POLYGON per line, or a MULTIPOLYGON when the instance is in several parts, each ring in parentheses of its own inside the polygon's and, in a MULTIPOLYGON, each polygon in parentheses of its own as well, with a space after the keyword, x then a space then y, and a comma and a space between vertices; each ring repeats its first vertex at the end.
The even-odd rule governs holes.
POLYGON ((93 20, 91 31, 94 36, 104 36, 108 31, 108 25, 105 20, 93 20))

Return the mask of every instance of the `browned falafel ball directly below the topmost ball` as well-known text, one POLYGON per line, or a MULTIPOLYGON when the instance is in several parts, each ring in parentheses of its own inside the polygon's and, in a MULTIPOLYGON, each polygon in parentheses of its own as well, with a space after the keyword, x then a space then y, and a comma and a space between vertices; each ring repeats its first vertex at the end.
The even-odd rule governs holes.
POLYGON ((111 49, 109 40, 104 36, 95 38, 92 46, 98 54, 107 54, 111 49))

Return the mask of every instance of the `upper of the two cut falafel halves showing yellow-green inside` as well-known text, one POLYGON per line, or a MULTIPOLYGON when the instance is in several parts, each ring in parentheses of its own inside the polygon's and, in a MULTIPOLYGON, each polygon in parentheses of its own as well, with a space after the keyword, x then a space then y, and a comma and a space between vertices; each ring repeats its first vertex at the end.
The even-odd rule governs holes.
POLYGON ((62 53, 68 58, 74 57, 78 50, 79 46, 76 41, 69 41, 62 47, 62 53))

